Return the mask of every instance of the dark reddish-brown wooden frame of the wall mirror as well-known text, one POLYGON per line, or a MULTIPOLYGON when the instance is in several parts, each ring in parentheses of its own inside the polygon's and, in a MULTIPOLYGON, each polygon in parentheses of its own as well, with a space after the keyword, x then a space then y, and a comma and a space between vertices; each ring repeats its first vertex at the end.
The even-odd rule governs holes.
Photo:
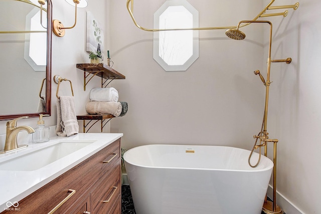
MULTIPOLYGON (((21 1, 25 2, 25 1, 21 1)), ((29 3, 30 4, 30 3, 29 3)), ((39 117, 39 114, 51 115, 51 38, 52 38, 52 4, 51 0, 47 0, 47 65, 46 65, 46 111, 35 113, 17 113, 0 115, 0 120, 10 120, 21 116, 39 117)), ((26 32, 19 32, 26 33, 26 32)), ((28 33, 28 32, 27 32, 28 33)), ((10 104, 9 104, 10 105, 10 104)))

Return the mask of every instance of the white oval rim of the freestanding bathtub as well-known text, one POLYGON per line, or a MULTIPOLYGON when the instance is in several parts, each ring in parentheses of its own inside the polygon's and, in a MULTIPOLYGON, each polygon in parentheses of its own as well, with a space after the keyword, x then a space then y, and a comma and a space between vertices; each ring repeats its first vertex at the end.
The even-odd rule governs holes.
MULTIPOLYGON (((140 146, 136 146, 136 147, 133 147, 131 149, 128 149, 124 155, 123 155, 123 158, 124 158, 124 161, 125 163, 129 163, 131 165, 134 165, 134 166, 139 166, 139 167, 143 167, 143 168, 161 168, 161 169, 190 169, 190 170, 209 170, 209 171, 231 171, 231 172, 260 172, 260 171, 267 171, 267 170, 270 170, 273 168, 274 166, 274 163, 271 159, 269 159, 268 157, 264 156, 263 154, 261 154, 261 161, 262 159, 265 159, 267 162, 268 162, 268 166, 262 168, 262 169, 256 169, 255 167, 253 169, 255 170, 245 170, 245 169, 222 169, 222 168, 219 168, 219 169, 215 169, 215 168, 195 168, 195 167, 171 167, 171 166, 167 166, 167 167, 164 167, 164 166, 146 166, 146 165, 141 165, 141 164, 137 164, 137 163, 133 163, 132 161, 128 161, 126 160, 126 153, 128 154, 131 150, 134 150, 134 149, 137 149, 138 147, 143 147, 143 146, 187 146, 187 147, 191 147, 191 146, 209 146, 209 147, 230 147, 230 148, 235 148, 235 149, 240 149, 240 150, 245 150, 245 151, 248 151, 248 152, 251 152, 250 150, 247 150, 247 149, 243 149, 243 148, 239 148, 239 147, 234 147, 234 146, 224 146, 224 145, 181 145, 181 144, 146 144, 146 145, 140 145, 140 146)), ((258 153, 255 152, 257 155, 258 153)))

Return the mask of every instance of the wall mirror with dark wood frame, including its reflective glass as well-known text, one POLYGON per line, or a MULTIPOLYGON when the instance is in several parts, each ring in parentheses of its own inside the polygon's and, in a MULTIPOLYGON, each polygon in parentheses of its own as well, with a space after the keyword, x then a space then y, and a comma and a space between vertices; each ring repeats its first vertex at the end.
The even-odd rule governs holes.
POLYGON ((0 120, 51 114, 51 0, 42 12, 43 26, 37 1, 0 0, 0 120))

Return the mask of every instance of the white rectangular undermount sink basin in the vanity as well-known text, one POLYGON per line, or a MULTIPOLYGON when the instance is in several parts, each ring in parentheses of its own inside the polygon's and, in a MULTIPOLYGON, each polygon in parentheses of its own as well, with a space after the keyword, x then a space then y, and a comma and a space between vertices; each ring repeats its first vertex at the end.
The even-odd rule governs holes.
POLYGON ((92 142, 59 142, 0 163, 0 170, 34 171, 59 160, 92 142))

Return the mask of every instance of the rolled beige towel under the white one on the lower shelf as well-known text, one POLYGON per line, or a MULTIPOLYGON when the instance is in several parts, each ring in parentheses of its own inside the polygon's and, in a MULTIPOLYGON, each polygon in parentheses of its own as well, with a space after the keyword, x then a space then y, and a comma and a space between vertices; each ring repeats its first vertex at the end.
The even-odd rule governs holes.
POLYGON ((121 113, 120 102, 88 102, 86 104, 88 114, 112 114, 118 117, 121 113))

